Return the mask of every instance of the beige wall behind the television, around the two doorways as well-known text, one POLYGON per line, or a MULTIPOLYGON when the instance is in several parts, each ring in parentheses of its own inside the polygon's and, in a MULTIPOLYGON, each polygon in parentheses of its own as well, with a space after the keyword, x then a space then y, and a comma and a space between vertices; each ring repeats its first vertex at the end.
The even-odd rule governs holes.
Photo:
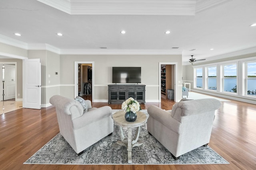
POLYGON ((181 98, 181 55, 60 55, 60 94, 74 98, 74 62, 94 62, 94 101, 108 101, 108 84, 112 84, 113 66, 141 67, 142 82, 146 84, 146 102, 159 101, 159 63, 177 64, 178 98, 181 98))

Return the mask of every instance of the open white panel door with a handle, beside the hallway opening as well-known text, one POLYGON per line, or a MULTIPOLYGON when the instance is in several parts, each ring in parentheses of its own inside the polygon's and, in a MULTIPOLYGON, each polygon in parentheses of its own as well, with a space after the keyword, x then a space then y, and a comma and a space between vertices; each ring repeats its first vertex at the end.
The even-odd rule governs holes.
POLYGON ((24 60, 24 98, 23 107, 41 109, 41 61, 24 60))

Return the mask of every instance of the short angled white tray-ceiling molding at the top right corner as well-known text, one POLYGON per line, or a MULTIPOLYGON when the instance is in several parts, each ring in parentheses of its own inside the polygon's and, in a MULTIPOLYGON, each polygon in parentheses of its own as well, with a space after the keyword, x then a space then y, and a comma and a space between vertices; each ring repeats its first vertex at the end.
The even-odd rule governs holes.
POLYGON ((216 6, 225 4, 232 0, 198 0, 196 3, 196 14, 212 9, 216 6))

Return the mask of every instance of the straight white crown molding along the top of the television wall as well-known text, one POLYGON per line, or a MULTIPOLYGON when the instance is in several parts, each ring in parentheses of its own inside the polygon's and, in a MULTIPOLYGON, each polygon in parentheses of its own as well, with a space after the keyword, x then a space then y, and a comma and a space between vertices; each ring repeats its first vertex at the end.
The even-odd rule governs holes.
POLYGON ((61 49, 60 55, 182 55, 182 51, 160 49, 61 49))

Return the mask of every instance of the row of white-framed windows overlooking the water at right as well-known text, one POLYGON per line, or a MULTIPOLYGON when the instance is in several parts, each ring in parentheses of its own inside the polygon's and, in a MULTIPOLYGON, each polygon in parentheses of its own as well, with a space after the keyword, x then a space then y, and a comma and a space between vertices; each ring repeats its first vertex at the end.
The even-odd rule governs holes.
POLYGON ((229 93, 237 93, 239 88, 243 93, 237 93, 238 95, 256 98, 256 61, 243 62, 238 65, 230 63, 219 66, 203 66, 195 68, 195 75, 197 88, 215 91, 218 89, 219 92, 229 93), (238 74, 238 66, 241 70, 240 74, 238 74), (221 74, 217 74, 218 72, 221 74), (218 86, 218 81, 221 86, 218 86), (239 84, 237 84, 238 81, 239 84))

